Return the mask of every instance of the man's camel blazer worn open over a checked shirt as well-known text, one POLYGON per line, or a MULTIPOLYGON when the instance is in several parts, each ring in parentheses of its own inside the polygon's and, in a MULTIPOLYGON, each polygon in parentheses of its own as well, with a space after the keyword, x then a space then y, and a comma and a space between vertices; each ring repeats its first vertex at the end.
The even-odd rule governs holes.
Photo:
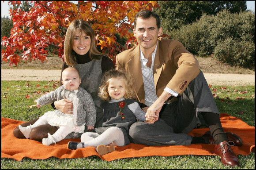
MULTIPOLYGON (((117 70, 124 69, 132 78, 139 101, 145 104, 139 45, 117 55, 117 70)), ((193 54, 177 40, 158 38, 153 74, 156 95, 168 87, 181 95, 188 84, 200 73, 200 66, 193 54)))

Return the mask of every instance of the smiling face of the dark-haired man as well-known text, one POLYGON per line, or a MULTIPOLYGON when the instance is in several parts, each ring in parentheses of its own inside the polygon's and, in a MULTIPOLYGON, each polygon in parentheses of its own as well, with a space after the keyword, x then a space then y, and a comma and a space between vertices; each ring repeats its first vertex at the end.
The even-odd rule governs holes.
POLYGON ((156 25, 156 19, 150 18, 137 18, 136 29, 133 29, 133 33, 140 45, 142 51, 149 50, 154 51, 157 38, 162 34, 162 27, 158 29, 156 25))

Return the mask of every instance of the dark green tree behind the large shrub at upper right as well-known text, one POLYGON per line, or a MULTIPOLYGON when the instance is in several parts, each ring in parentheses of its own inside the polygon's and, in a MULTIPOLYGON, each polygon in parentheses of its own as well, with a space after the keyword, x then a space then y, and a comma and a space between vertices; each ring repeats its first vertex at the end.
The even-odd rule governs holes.
POLYGON ((162 19, 163 33, 191 24, 203 13, 217 14, 223 9, 231 13, 246 11, 246 1, 158 1, 160 8, 154 11, 162 19))

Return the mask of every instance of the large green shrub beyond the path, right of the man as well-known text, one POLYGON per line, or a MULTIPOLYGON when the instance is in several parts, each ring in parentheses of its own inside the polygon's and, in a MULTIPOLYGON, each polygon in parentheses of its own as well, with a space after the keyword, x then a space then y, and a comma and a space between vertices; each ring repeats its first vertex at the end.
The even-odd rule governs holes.
POLYGON ((254 17, 252 11, 231 14, 223 10, 217 15, 203 14, 198 21, 174 29, 169 35, 192 54, 211 55, 231 65, 251 68, 255 65, 254 17))

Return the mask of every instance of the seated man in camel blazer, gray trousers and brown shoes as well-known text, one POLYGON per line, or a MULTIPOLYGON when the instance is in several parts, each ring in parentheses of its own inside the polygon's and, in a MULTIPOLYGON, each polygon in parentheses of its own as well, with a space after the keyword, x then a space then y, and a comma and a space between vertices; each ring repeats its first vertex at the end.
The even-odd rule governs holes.
POLYGON ((224 165, 239 166, 230 144, 241 146, 241 138, 224 133, 195 56, 176 40, 158 38, 162 27, 152 11, 136 14, 133 32, 139 45, 117 55, 117 69, 131 75, 138 100, 150 106, 147 118, 154 119, 152 124, 136 122, 130 127, 133 141, 143 145, 215 144, 224 165), (211 132, 202 137, 187 135, 201 124, 211 132))

